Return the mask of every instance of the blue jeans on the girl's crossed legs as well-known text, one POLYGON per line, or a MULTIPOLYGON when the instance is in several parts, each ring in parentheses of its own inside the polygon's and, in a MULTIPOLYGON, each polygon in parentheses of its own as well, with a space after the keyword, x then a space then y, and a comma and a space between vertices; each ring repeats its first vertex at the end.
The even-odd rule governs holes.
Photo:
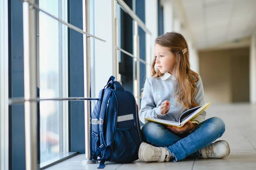
POLYGON ((190 133, 172 133, 162 124, 148 122, 142 127, 143 140, 155 147, 166 147, 174 156, 173 161, 199 158, 198 150, 209 146, 225 131, 221 118, 209 118, 198 124, 190 133))

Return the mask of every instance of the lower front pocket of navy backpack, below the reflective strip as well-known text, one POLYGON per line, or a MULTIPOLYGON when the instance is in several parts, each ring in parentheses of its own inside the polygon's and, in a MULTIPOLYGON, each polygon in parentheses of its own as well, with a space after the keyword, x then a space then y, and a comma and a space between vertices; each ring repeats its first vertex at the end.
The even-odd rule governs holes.
POLYGON ((136 126, 116 128, 113 158, 120 163, 128 163, 138 159, 140 137, 136 126))

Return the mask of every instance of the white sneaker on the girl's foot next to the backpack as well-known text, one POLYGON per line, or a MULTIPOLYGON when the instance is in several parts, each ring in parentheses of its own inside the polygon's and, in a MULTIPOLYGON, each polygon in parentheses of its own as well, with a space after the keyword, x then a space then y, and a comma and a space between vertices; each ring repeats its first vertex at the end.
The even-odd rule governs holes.
POLYGON ((145 142, 140 144, 139 159, 140 161, 169 161, 171 153, 165 147, 154 147, 145 142))

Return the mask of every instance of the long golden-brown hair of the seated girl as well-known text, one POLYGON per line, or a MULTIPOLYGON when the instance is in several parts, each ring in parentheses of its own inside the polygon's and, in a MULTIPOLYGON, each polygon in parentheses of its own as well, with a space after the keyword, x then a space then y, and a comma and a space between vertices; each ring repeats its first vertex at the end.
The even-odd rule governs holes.
MULTIPOLYGON (((172 74, 176 76, 178 83, 178 87, 175 89, 177 101, 181 102, 186 109, 197 107, 198 103, 195 102, 195 95, 198 90, 196 83, 199 81, 199 76, 196 72, 190 69, 189 46, 185 38, 177 32, 167 32, 166 34, 157 37, 155 43, 163 47, 168 47, 172 54, 176 56, 176 64, 172 74), (183 54, 182 50, 185 48, 187 49, 187 52, 183 54)), ((151 76, 160 78, 163 74, 159 69, 155 70, 155 61, 156 58, 154 58, 151 66, 151 76)))

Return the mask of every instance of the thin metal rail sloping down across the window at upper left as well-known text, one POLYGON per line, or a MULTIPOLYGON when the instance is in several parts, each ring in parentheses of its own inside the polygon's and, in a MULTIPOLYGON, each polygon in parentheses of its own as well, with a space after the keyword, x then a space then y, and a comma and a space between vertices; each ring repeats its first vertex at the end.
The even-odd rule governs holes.
POLYGON ((96 37, 96 36, 91 35, 91 34, 89 34, 89 33, 87 33, 87 32, 84 32, 82 29, 79 29, 79 28, 77 28, 76 26, 73 26, 72 24, 65 22, 64 20, 61 20, 61 19, 59 19, 59 18, 53 16, 52 14, 49 14, 48 12, 44 11, 43 9, 40 9, 40 8, 38 7, 38 4, 31 3, 31 2, 29 2, 28 0, 21 0, 21 1, 26 2, 26 3, 29 3, 29 5, 32 6, 33 8, 37 9, 38 11, 44 12, 45 14, 49 15, 50 17, 54 18, 55 20, 58 20, 60 23, 64 24, 65 26, 67 26, 67 27, 70 28, 70 29, 74 29, 74 30, 76 30, 77 32, 80 32, 81 34, 85 34, 85 35, 88 35, 89 37, 93 37, 93 38, 95 38, 95 39, 97 39, 97 40, 101 40, 101 41, 103 41, 103 42, 106 42, 106 40, 103 40, 103 39, 101 39, 101 38, 99 38, 99 37, 96 37))

